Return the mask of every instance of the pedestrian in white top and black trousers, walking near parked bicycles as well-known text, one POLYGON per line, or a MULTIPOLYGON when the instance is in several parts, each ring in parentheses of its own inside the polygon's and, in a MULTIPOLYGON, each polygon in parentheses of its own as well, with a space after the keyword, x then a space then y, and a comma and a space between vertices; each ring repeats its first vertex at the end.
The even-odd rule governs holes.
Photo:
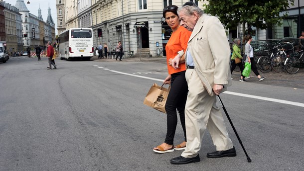
POLYGON ((259 81, 264 80, 266 77, 262 77, 260 75, 260 73, 258 72, 258 68, 256 66, 256 62, 254 60, 253 57, 253 48, 250 45, 251 41, 252 41, 252 36, 251 35, 247 35, 245 36, 243 43, 245 43, 245 41, 247 41, 246 45, 245 45, 245 55, 247 56, 245 62, 249 62, 251 63, 251 70, 254 72, 254 74, 256 76, 258 76, 259 81))

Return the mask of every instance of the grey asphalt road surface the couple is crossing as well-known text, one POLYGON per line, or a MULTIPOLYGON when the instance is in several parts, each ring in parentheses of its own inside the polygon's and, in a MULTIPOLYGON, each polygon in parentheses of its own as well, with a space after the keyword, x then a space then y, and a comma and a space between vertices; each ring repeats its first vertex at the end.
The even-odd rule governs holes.
MULTIPOLYGON (((52 71, 46 58, 0 64, 0 171, 303 171, 301 86, 234 79, 221 98, 252 163, 224 116, 237 156, 206 158, 215 150, 206 132, 201 162, 176 166, 169 160, 181 151, 152 151, 164 141, 166 116, 143 104, 167 75, 163 62, 56 64, 52 71)), ((178 123, 174 142, 182 141, 178 123)))

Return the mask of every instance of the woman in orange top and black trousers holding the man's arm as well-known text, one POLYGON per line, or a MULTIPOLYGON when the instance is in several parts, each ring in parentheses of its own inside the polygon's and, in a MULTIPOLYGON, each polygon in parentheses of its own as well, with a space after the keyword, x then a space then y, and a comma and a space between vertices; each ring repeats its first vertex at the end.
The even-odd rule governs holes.
POLYGON ((185 128, 185 104, 187 99, 188 85, 185 79, 186 66, 184 56, 181 57, 181 63, 178 69, 171 66, 171 60, 178 55, 179 51, 186 51, 187 43, 191 32, 180 26, 180 20, 177 14, 177 6, 169 5, 163 9, 162 15, 165 21, 172 29, 171 37, 166 45, 168 76, 163 81, 164 84, 171 84, 171 89, 165 105, 167 113, 167 134, 164 143, 153 148, 156 153, 173 152, 174 150, 183 150, 186 147, 186 128, 185 128), (184 132, 184 142, 174 146, 173 139, 177 125, 177 113, 179 113, 181 126, 184 132))

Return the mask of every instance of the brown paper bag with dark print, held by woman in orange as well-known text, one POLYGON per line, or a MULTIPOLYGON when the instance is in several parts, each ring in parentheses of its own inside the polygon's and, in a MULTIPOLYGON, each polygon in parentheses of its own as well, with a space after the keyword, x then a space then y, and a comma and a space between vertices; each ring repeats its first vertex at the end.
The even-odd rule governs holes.
POLYGON ((148 94, 146 95, 144 104, 152 107, 153 109, 166 113, 164 106, 167 101, 167 97, 170 91, 170 86, 169 88, 164 88, 162 86, 163 85, 159 86, 156 83, 154 83, 151 86, 148 94))

